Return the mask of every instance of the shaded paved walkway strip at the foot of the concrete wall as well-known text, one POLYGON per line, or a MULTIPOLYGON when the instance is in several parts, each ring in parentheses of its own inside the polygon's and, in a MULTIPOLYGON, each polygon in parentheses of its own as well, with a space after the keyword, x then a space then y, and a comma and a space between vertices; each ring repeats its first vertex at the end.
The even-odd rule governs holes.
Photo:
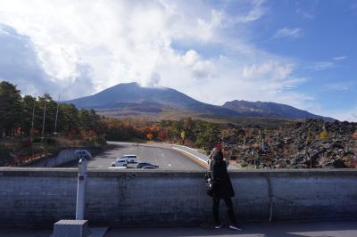
MULTIPOLYGON (((105 237, 114 236, 239 236, 239 237, 356 237, 357 221, 348 222, 250 222, 242 224, 243 231, 233 231, 228 226, 222 229, 201 227, 175 228, 113 228, 105 237)), ((0 229, 6 237, 48 237, 51 230, 0 229)))

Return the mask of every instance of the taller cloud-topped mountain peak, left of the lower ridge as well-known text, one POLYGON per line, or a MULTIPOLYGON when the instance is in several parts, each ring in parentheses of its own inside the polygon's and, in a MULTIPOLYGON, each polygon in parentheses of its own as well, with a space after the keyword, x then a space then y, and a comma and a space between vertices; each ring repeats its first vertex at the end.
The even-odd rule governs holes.
POLYGON ((198 114, 238 116, 239 112, 221 106, 198 102, 177 90, 166 87, 144 87, 137 83, 122 83, 104 91, 68 101, 79 108, 159 113, 181 110, 198 114))

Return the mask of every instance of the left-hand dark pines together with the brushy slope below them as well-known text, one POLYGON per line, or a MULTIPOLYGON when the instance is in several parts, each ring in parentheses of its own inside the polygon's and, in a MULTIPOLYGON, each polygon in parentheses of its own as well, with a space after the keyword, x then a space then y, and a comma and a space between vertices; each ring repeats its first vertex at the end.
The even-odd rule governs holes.
POLYGON ((62 147, 101 146, 104 127, 95 110, 78 110, 50 96, 21 96, 0 83, 0 165, 53 155, 62 147))

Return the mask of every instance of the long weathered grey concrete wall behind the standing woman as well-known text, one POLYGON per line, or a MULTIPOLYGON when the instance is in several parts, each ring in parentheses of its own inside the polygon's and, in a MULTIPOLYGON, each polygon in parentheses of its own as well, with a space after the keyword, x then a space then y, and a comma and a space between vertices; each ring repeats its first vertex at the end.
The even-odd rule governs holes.
MULTIPOLYGON (((212 221, 204 171, 88 173, 87 219, 109 226, 198 225, 212 221)), ((235 171, 240 220, 357 219, 357 171, 235 171)), ((73 168, 0 168, 0 225, 51 227, 75 217, 73 168)), ((221 217, 226 217, 221 203, 221 217)))

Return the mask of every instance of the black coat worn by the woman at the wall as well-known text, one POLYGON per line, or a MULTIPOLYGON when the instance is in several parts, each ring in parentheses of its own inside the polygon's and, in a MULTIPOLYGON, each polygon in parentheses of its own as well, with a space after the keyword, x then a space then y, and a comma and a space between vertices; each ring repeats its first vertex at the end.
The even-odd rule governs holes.
POLYGON ((232 182, 228 176, 227 166, 225 161, 220 161, 219 164, 212 166, 213 176, 213 198, 226 199, 234 197, 232 182))

